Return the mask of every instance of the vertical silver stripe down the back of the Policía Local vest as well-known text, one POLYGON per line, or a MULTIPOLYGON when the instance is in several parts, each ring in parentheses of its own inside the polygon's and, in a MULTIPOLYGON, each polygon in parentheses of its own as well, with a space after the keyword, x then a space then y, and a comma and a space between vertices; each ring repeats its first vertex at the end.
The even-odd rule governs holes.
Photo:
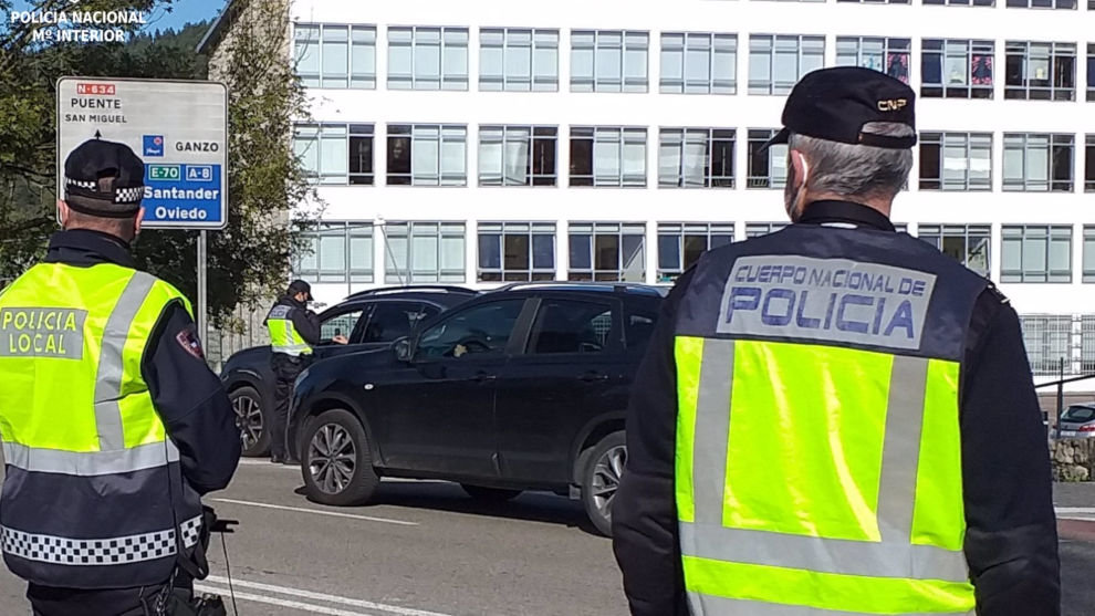
POLYGON ((102 451, 125 449, 122 408, 118 406, 125 373, 123 352, 137 312, 155 284, 156 278, 152 274, 134 273, 106 320, 103 348, 98 356, 98 374, 95 377, 95 427, 98 429, 98 448, 102 451))

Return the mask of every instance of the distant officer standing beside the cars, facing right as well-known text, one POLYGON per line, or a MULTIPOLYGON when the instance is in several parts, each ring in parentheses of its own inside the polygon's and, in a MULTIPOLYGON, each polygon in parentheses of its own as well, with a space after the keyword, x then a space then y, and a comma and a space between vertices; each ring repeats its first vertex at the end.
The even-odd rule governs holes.
MULTIPOLYGON (((274 374, 274 407, 268 414, 270 430, 270 461, 275 464, 295 464, 285 442, 289 404, 296 377, 307 367, 312 347, 320 344, 320 319, 307 309, 312 301, 312 285, 294 280, 285 294, 270 309, 267 328, 270 331, 270 369, 274 374)), ((335 344, 346 344, 345 336, 334 336, 335 344)))

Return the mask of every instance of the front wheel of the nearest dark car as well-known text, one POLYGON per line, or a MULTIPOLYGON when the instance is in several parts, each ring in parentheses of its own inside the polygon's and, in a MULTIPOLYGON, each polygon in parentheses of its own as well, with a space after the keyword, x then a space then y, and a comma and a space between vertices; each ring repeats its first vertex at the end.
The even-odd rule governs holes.
POLYGON ((301 440, 301 474, 309 500, 335 507, 365 504, 380 478, 361 421, 347 410, 327 410, 307 422, 301 440))

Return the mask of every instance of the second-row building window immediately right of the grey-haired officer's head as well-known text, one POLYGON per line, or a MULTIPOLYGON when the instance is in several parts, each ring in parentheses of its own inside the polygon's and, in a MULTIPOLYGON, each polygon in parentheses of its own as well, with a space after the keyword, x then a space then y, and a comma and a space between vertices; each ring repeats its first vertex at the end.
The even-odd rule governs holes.
POLYGON ((991 189, 992 134, 920 135, 920 190, 991 189))

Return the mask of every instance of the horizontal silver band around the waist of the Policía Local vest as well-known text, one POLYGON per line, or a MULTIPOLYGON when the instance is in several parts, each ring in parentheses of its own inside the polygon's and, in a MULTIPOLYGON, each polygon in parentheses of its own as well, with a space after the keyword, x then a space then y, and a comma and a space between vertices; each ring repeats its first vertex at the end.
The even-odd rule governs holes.
POLYGON ((31 472, 94 477, 160 468, 179 461, 179 450, 171 439, 112 451, 62 451, 4 442, 3 459, 31 472))

